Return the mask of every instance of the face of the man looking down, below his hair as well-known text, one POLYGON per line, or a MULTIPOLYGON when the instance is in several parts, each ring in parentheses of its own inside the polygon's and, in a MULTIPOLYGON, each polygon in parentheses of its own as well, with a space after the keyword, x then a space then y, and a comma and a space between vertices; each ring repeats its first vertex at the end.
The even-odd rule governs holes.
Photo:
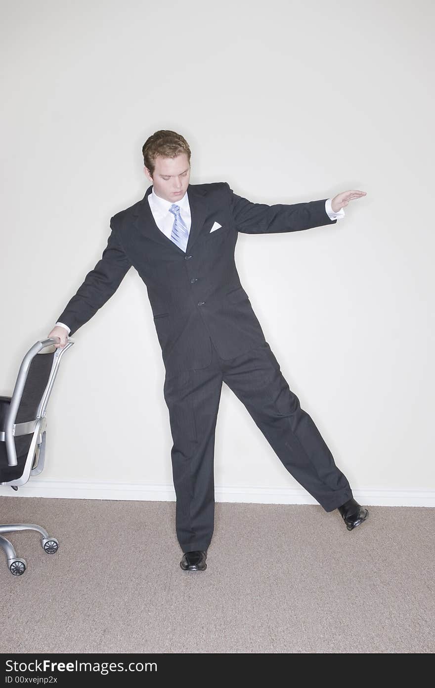
POLYGON ((176 203, 186 193, 190 179, 187 153, 181 153, 177 158, 162 158, 159 155, 155 159, 153 176, 147 167, 144 170, 150 182, 153 182, 154 193, 166 201, 176 203))

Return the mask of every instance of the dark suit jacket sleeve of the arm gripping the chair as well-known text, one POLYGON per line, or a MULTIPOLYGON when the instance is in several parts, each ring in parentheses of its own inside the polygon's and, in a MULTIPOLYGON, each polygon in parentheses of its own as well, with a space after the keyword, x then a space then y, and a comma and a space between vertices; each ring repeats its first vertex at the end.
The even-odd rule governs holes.
POLYGON ((131 262, 122 248, 114 222, 112 217, 111 235, 107 239, 107 247, 104 248, 101 259, 95 268, 88 272, 85 281, 57 319, 70 327, 69 334, 76 332, 96 314, 115 293, 126 272, 131 268, 131 262))

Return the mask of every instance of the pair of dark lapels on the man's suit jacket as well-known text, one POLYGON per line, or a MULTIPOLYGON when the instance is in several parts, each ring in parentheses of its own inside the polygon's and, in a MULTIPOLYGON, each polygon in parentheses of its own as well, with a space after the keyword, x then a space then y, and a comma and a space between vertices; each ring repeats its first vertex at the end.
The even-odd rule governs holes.
MULTIPOLYGON (((140 203, 137 205, 137 208, 135 210, 135 226, 141 232, 146 234, 146 236, 149 239, 157 241, 157 243, 159 244, 164 244, 164 246, 170 245, 175 251, 178 251, 182 255, 186 255, 185 252, 181 250, 179 246, 177 246, 177 244, 174 244, 174 242, 171 241, 171 239, 169 239, 169 237, 167 237, 157 227, 157 224, 155 223, 155 219, 153 217, 153 213, 151 213, 150 204, 148 203, 148 195, 150 195, 152 190, 153 186, 149 186, 148 189, 146 189, 146 193, 142 201, 140 201, 140 203)), ((187 194, 192 222, 190 225, 190 233, 186 252, 190 251, 190 249, 192 248, 192 244, 194 244, 194 241, 196 241, 199 237, 201 229, 203 228, 204 219, 207 211, 207 202, 205 201, 203 193, 201 193, 198 189, 189 184, 187 194)))

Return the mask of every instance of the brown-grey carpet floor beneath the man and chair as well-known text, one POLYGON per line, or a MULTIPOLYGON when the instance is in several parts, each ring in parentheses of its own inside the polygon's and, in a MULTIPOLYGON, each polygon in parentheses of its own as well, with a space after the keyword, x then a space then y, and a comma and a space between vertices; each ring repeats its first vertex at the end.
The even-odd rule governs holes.
POLYGON ((184 572, 174 502, 2 497, 1 652, 432 653, 435 509, 216 504, 205 572, 184 572))

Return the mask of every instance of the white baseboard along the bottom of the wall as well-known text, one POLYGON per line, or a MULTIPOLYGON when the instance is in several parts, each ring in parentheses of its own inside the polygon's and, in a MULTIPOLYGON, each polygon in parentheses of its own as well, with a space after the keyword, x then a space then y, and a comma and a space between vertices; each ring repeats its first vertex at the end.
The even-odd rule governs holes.
MULTIPOLYGON (((231 487, 215 486, 216 502, 246 504, 317 504, 302 487, 231 487)), ((139 502, 175 502, 172 485, 144 485, 107 482, 78 482, 74 480, 43 480, 32 477, 27 484, 13 491, 0 485, 3 497, 50 497, 54 499, 122 499, 139 502)), ((353 496, 367 506, 432 506, 435 490, 388 490, 359 488, 353 496)))

